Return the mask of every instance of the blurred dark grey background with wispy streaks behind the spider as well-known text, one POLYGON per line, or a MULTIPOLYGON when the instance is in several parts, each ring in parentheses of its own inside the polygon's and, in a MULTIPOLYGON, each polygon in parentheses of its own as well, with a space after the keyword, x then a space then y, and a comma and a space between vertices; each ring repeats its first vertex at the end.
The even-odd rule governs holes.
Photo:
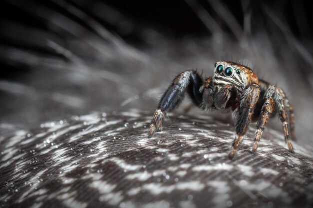
POLYGON ((281 86, 298 143, 312 144, 312 8, 300 0, 2 0, 0 133, 92 111, 152 115, 177 73, 211 76, 227 59, 281 86))

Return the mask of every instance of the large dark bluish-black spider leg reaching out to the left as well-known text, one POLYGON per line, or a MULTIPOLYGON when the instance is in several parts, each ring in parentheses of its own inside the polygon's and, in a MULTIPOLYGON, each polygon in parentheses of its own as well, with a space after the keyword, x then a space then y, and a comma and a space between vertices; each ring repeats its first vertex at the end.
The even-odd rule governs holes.
POLYGON ((167 112, 175 109, 181 102, 184 92, 187 91, 192 102, 200 106, 202 101, 202 93, 199 88, 202 84, 201 76, 196 70, 188 70, 178 74, 169 87, 166 89, 158 106, 153 114, 148 130, 148 138, 150 138, 154 131, 160 131, 162 128, 162 119, 167 112))

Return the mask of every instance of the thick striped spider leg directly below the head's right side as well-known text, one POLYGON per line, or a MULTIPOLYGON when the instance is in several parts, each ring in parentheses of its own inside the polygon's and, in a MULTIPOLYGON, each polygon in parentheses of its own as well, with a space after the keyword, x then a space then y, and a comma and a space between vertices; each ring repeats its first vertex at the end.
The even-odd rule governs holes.
POLYGON ((248 125, 251 121, 255 104, 259 98, 260 88, 256 84, 251 84, 244 90, 239 104, 239 113, 236 122, 236 136, 232 143, 232 150, 228 154, 229 159, 233 159, 237 153, 237 149, 240 146, 243 135, 248 129, 248 125))

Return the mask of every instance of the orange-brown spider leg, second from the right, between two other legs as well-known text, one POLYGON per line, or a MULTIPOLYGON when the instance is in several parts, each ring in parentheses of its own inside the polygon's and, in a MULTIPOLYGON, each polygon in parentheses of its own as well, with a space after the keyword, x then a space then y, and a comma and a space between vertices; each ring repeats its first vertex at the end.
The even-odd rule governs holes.
POLYGON ((262 110, 260 113, 260 118, 258 119, 257 124, 256 124, 256 130, 255 130, 255 135, 254 135, 254 139, 253 139, 253 141, 254 141, 253 142, 253 148, 251 151, 253 154, 256 153, 258 142, 262 136, 262 133, 263 133, 263 130, 266 126, 268 118, 274 110, 274 106, 275 106, 275 102, 271 97, 268 97, 265 99, 265 102, 262 106, 262 110))

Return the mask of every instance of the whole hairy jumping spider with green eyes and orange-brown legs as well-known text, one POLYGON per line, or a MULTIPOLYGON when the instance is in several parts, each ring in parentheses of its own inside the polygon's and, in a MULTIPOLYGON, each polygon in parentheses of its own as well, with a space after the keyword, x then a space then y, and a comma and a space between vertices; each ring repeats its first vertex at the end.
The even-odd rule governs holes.
POLYGON ((278 112, 282 122, 284 139, 289 152, 293 148, 293 108, 284 92, 276 85, 257 79, 248 67, 230 61, 215 63, 213 78, 202 81, 195 70, 178 74, 161 97, 151 119, 148 137, 161 130, 162 119, 178 106, 187 91, 194 104, 205 110, 231 108, 236 120, 236 136, 229 158, 233 159, 250 122, 257 121, 252 153, 256 153, 258 141, 269 116, 278 112))

